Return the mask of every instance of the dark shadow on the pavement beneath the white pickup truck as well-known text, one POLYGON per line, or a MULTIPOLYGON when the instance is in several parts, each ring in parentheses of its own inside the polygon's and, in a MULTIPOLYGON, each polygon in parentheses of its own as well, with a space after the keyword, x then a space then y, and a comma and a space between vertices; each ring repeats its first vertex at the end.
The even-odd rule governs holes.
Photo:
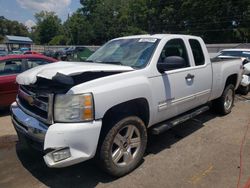
MULTIPOLYGON (((205 122, 215 117, 216 115, 207 112, 161 135, 150 135, 146 155, 171 148, 171 145, 202 128, 205 122)), ((48 187, 95 187, 99 183, 117 180, 104 173, 93 160, 67 168, 52 169, 45 165, 40 153, 28 151, 20 143, 16 144, 16 153, 24 168, 48 187)))

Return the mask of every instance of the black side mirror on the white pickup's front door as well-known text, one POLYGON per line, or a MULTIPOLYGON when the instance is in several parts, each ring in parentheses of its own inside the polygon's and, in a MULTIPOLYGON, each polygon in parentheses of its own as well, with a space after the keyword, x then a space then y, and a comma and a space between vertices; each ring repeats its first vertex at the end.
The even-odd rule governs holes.
POLYGON ((180 56, 169 56, 163 62, 157 63, 157 69, 160 73, 168 70, 180 69, 186 67, 186 61, 180 56))

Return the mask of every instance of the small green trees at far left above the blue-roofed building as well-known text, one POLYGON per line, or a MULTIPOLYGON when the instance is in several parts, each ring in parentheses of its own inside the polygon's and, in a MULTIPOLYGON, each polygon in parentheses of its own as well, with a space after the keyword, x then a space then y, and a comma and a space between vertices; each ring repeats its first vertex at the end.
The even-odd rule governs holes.
POLYGON ((0 16, 0 42, 5 35, 28 36, 28 29, 22 23, 0 16))

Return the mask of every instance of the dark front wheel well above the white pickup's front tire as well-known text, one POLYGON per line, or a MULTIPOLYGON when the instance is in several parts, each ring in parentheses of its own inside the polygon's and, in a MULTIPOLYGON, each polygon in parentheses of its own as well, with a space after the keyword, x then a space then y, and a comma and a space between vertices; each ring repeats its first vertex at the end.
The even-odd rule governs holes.
POLYGON ((145 98, 137 98, 120 103, 110 108, 103 116, 103 124, 111 123, 128 115, 136 115, 142 119, 147 127, 149 123, 149 105, 145 98))

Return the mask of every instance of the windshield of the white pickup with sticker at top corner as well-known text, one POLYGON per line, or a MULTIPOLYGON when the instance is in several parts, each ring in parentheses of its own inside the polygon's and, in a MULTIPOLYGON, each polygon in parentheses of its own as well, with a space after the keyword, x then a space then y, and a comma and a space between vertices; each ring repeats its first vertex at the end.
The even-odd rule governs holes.
POLYGON ((87 61, 143 68, 148 64, 157 44, 158 39, 154 38, 112 40, 93 53, 87 61))

